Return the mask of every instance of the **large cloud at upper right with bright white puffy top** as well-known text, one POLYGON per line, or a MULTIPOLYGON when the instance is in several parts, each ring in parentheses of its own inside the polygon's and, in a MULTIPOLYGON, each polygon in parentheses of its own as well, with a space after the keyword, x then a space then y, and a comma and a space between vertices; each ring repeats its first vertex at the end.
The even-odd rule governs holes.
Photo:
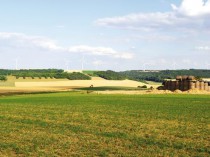
POLYGON ((170 12, 135 13, 119 17, 102 18, 97 25, 131 30, 208 30, 210 26, 210 0, 183 0, 180 7, 170 12))

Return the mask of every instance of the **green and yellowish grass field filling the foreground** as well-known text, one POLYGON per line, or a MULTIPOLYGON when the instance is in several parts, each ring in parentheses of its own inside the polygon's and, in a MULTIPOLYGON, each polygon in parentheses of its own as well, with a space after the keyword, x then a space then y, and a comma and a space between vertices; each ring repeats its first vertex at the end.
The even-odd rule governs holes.
POLYGON ((210 156, 207 95, 0 97, 0 156, 210 156))

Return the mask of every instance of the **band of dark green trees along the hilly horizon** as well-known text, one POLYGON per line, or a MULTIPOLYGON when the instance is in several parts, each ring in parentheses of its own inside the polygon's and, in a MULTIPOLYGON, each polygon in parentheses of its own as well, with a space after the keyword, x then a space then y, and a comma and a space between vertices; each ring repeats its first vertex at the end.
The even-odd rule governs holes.
MULTIPOLYGON (((89 74, 83 73, 67 73, 61 69, 30 69, 30 70, 5 70, 0 69, 0 80, 5 81, 6 76, 19 77, 45 77, 45 78, 56 78, 63 79, 67 78, 70 80, 90 80, 89 74)), ((136 81, 155 81, 163 82, 164 79, 174 79, 177 75, 193 75, 197 78, 210 78, 210 70, 202 69, 190 69, 190 70, 161 70, 161 71, 142 71, 142 70, 131 70, 123 72, 115 71, 94 71, 91 73, 93 76, 99 76, 107 80, 136 80, 136 81)))

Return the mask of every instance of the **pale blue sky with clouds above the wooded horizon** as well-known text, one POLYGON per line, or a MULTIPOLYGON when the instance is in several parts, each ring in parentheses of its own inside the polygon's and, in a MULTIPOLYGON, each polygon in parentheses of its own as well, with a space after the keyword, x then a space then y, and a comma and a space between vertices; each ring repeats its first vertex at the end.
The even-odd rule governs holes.
POLYGON ((0 69, 210 69, 210 0, 0 0, 0 69))

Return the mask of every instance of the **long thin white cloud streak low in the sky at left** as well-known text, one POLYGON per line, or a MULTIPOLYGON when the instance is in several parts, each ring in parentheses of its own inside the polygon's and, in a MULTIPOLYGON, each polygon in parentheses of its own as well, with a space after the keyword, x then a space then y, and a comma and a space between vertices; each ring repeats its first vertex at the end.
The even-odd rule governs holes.
POLYGON ((87 45, 78 45, 70 47, 58 46, 54 40, 40 36, 28 36, 22 33, 0 32, 1 46, 8 46, 19 49, 44 49, 47 51, 86 53, 89 55, 110 56, 114 58, 131 59, 132 54, 118 52, 109 47, 91 47, 87 45))

